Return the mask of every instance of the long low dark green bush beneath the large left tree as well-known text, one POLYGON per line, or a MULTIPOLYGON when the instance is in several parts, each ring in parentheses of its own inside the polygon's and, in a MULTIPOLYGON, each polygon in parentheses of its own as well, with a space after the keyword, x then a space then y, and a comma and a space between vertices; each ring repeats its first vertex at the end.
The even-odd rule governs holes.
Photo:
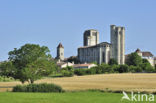
POLYGON ((13 92, 64 92, 64 90, 55 84, 29 84, 17 85, 13 87, 13 92))

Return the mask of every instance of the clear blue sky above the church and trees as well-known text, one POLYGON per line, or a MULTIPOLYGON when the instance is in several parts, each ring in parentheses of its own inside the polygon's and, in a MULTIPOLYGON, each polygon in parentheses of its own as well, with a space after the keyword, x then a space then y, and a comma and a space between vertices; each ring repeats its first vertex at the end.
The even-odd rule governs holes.
POLYGON ((97 29, 110 42, 110 25, 124 26, 126 54, 137 48, 156 56, 156 0, 0 0, 0 61, 26 43, 61 42, 65 57, 76 56, 83 33, 97 29))

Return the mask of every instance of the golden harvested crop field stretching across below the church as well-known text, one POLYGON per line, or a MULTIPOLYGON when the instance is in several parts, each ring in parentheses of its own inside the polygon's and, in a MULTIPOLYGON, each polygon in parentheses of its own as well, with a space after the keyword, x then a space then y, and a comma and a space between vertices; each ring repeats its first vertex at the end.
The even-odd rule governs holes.
MULTIPOLYGON (((55 83, 67 91, 110 89, 125 91, 156 91, 155 73, 99 74, 74 77, 44 78, 35 83, 55 83)), ((15 82, 0 82, 0 91, 11 90, 15 82)))

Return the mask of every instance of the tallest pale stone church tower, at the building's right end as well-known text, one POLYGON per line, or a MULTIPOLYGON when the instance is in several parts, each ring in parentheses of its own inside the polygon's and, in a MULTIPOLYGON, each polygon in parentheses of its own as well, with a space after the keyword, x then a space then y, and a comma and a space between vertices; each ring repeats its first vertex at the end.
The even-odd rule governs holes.
POLYGON ((118 64, 125 63, 125 28, 111 25, 111 58, 117 60, 118 64))

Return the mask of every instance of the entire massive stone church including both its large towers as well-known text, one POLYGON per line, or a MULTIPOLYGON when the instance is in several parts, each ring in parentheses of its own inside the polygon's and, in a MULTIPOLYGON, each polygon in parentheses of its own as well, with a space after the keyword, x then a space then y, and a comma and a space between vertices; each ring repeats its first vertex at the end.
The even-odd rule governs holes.
POLYGON ((91 29, 84 32, 84 46, 78 48, 78 58, 81 63, 108 63, 110 58, 114 58, 118 64, 124 64, 125 28, 115 25, 110 27, 111 43, 98 43, 99 33, 97 30, 91 29))

